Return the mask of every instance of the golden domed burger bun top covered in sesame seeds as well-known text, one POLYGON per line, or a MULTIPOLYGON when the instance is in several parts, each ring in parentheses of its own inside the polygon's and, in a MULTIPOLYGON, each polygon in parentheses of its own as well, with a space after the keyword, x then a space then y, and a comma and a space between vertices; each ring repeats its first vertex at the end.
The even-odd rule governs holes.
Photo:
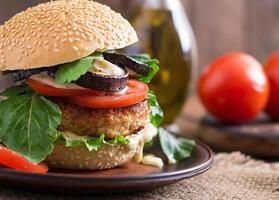
POLYGON ((72 62, 138 41, 130 23, 89 0, 58 0, 21 12, 0 27, 0 70, 72 62))

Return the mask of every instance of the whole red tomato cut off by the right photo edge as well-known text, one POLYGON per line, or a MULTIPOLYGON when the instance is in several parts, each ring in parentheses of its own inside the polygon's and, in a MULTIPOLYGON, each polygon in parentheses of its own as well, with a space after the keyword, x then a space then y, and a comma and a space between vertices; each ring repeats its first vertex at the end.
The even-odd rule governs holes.
POLYGON ((266 112, 274 119, 279 119, 279 51, 268 59, 265 67, 270 83, 270 97, 266 112))

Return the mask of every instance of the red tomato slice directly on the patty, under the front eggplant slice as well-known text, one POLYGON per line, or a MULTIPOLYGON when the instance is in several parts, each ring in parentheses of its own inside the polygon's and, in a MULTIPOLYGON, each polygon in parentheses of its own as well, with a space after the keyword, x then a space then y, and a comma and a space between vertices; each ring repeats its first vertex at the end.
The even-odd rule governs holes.
POLYGON ((128 90, 124 94, 106 96, 74 96, 71 101, 80 106, 97 109, 122 108, 142 102, 146 99, 148 86, 135 80, 128 81, 128 90))

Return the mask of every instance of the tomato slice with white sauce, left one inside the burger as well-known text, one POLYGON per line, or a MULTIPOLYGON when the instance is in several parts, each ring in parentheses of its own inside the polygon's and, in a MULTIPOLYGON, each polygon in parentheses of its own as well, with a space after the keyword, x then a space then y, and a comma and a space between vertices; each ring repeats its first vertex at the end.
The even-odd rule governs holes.
POLYGON ((77 95, 97 95, 100 92, 79 87, 75 84, 56 84, 48 75, 38 74, 27 79, 27 84, 36 92, 55 97, 70 97, 77 95))

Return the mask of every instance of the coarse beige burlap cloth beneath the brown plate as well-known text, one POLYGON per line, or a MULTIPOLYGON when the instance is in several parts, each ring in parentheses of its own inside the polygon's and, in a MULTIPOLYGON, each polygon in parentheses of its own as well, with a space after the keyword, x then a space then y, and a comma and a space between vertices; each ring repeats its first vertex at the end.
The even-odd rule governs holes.
MULTIPOLYGON (((108 191, 109 194, 109 191, 108 191)), ((153 192, 113 196, 62 196, 0 189, 0 199, 109 200, 216 199, 279 200, 279 163, 256 161, 240 153, 218 154, 207 173, 153 192)))

